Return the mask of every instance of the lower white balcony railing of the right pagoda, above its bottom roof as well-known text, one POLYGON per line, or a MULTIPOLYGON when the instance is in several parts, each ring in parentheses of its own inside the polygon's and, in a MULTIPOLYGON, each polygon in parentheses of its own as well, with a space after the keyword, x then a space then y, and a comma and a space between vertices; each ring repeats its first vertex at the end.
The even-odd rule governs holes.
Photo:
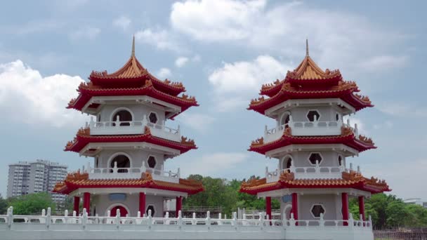
MULTIPOLYGON (((319 166, 317 162, 315 166, 291 166, 290 168, 276 169, 274 171, 268 171, 268 167, 265 167, 265 179, 267 182, 277 182, 280 175, 285 172, 294 173, 295 179, 342 178, 343 172, 350 173, 350 171, 353 171, 353 164, 350 164, 350 168, 346 168, 345 166, 319 166)), ((357 166, 357 171, 360 172, 359 166, 357 166)))

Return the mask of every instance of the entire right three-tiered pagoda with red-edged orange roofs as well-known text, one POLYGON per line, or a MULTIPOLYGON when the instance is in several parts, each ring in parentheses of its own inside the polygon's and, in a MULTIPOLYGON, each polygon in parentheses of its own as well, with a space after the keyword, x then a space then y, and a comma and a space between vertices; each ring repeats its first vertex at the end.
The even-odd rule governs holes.
POLYGON ((364 199, 390 189, 384 180, 365 178, 359 167, 346 162, 376 148, 370 138, 359 135, 356 124, 343 120, 373 107, 358 92, 355 82, 343 80, 338 69, 320 69, 306 42, 301 64, 282 81, 263 85, 261 97, 251 100, 248 109, 275 119, 276 126, 265 126, 264 136, 252 141, 249 151, 278 161, 274 171, 265 168, 265 178, 243 182, 240 192, 265 198, 268 217, 271 200, 279 200, 282 218, 296 225, 318 225, 321 220, 347 226, 353 219, 348 199, 357 197, 357 217, 365 220, 364 199))

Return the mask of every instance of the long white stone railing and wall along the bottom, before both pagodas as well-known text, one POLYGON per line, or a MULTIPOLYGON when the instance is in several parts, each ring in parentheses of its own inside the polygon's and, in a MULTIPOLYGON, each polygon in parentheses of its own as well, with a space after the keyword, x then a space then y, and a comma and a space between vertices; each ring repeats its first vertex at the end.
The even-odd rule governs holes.
POLYGON ((293 213, 289 220, 269 220, 260 213, 258 219, 247 219, 246 214, 237 218, 183 218, 181 211, 176 218, 153 218, 138 211, 136 217, 121 216, 117 210, 112 217, 88 216, 86 208, 81 216, 74 211, 63 216, 47 213, 36 215, 13 215, 8 208, 7 215, 0 215, 0 236, 4 239, 135 239, 143 234, 146 239, 372 239, 372 220, 295 220, 293 213))

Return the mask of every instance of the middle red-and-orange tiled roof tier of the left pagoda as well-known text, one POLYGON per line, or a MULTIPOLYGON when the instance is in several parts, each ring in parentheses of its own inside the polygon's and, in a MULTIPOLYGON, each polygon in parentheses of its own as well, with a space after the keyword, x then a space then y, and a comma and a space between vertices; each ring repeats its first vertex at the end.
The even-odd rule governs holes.
POLYGON ((145 127, 145 133, 138 135, 91 135, 90 128, 80 128, 74 140, 67 142, 64 150, 80 152, 81 149, 91 142, 149 142, 154 145, 178 149, 180 154, 188 152, 190 149, 197 149, 194 140, 181 137, 180 142, 175 142, 158 138, 151 134, 150 128, 145 127))

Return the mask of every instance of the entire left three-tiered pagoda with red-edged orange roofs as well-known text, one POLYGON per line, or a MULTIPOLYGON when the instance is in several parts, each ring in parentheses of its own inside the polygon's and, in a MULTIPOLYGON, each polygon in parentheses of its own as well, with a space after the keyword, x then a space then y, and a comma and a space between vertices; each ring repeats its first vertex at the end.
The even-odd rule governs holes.
POLYGON ((170 128, 165 122, 198 106, 195 98, 183 94, 183 84, 161 81, 140 64, 135 37, 123 67, 112 74, 92 72, 88 79, 67 108, 92 115, 91 121, 65 151, 93 157, 93 167, 69 173, 53 192, 74 196, 77 215, 81 197, 89 215, 115 216, 119 210, 121 216, 163 217, 164 204, 172 199, 178 213, 183 197, 203 191, 203 186, 180 178, 179 168, 164 169, 167 159, 197 149, 179 126, 170 128))

